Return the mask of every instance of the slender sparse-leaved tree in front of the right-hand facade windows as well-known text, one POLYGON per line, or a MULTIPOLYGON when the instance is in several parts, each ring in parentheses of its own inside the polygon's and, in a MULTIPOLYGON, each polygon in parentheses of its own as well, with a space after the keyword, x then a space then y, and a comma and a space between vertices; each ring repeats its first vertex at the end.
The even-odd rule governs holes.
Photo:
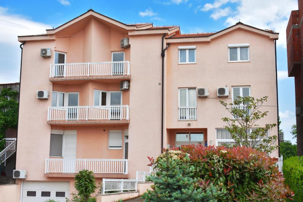
POLYGON ((267 101, 268 96, 260 99, 253 97, 238 96, 232 103, 226 103, 220 100, 220 103, 232 115, 223 117, 225 129, 231 134, 231 138, 235 140, 236 146, 246 146, 255 148, 258 151, 270 154, 275 151, 278 145, 275 141, 277 135, 267 136, 267 131, 275 127, 277 124, 265 124, 260 127, 256 122, 267 116, 268 111, 260 111, 260 107, 267 101), (254 128, 253 130, 250 130, 254 128))

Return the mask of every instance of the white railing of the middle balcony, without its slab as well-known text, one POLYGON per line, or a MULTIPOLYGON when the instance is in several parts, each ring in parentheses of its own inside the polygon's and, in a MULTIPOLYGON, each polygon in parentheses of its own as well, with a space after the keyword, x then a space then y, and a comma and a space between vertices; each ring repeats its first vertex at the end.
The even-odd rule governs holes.
POLYGON ((128 105, 48 107, 48 121, 52 120, 128 120, 128 105))

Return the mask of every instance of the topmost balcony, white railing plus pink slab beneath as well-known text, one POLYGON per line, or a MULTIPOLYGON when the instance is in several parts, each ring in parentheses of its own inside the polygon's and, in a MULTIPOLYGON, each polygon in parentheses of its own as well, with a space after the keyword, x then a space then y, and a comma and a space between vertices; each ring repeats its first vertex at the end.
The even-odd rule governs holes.
POLYGON ((85 79, 130 79, 130 62, 85 62, 51 64, 49 80, 52 82, 85 79))

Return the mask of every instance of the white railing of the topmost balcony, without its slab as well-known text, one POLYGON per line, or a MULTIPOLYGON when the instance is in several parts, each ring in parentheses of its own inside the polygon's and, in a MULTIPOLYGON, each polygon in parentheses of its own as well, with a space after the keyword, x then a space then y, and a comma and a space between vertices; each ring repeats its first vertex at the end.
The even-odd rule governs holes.
POLYGON ((49 77, 129 75, 130 62, 85 62, 51 64, 49 77))

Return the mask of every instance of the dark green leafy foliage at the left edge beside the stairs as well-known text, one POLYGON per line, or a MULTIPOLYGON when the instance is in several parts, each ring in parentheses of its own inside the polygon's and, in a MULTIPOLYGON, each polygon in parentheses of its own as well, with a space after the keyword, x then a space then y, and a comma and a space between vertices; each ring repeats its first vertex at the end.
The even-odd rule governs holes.
MULTIPOLYGON (((0 140, 5 137, 8 128, 16 129, 18 123, 18 91, 3 88, 0 93, 0 140), (8 99, 9 98, 9 99, 8 99)), ((5 140, 0 141, 0 151, 4 149, 5 140)))

